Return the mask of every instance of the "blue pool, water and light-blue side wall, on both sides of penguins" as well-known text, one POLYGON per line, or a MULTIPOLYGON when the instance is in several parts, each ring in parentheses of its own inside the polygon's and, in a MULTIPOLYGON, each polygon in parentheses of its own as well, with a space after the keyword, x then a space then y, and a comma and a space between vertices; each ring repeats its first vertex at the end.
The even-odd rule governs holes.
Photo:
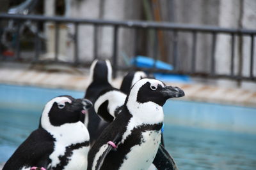
MULTIPOLYGON (((84 92, 72 90, 13 85, 0 85, 0 94, 0 162, 5 162, 38 127, 47 101, 66 94, 84 96, 84 92)), ((168 101, 164 113, 165 145, 179 169, 256 169, 255 129, 239 132, 245 131, 243 122, 253 118, 254 108, 168 101), (221 110, 225 112, 218 115, 221 110), (215 128, 226 123, 223 128, 215 128)), ((249 121, 249 129, 252 122, 255 119, 249 121)))

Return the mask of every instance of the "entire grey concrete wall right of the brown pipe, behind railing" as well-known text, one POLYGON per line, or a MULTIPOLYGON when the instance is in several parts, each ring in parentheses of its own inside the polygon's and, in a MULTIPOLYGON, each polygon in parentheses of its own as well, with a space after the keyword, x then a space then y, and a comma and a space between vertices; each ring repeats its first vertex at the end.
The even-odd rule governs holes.
MULTIPOLYGON (((161 1, 161 16, 163 21, 171 21, 180 24, 194 25, 216 25, 227 28, 256 29, 256 1, 254 0, 170 0, 161 1), (166 9, 166 6, 168 8, 166 9)), ((168 44, 168 57, 172 61, 173 36, 164 33, 165 41, 168 44)), ((211 34, 198 34, 198 45, 196 48, 196 70, 211 72, 211 34)), ((250 37, 238 38, 236 36, 235 45, 235 74, 239 72, 248 76, 250 73, 250 37), (242 45, 243 44, 243 45, 242 45), (239 64, 241 63, 241 67, 239 64)), ((192 55, 192 35, 186 32, 179 33, 178 39, 179 67, 189 71, 192 55)), ((256 49, 256 44, 255 44, 256 49)), ((256 54, 256 52, 255 52, 256 54)), ((255 55, 254 54, 254 55, 255 55)), ((161 54, 159 53, 159 58, 161 54)), ((230 73, 231 64, 231 36, 220 34, 216 38, 216 73, 230 73)), ((254 66, 256 61, 254 60, 254 66)), ((256 74, 256 67, 253 73, 256 74)), ((219 80, 209 81, 209 83, 222 85, 225 87, 240 86, 244 89, 255 89, 255 83, 242 81, 219 80)))

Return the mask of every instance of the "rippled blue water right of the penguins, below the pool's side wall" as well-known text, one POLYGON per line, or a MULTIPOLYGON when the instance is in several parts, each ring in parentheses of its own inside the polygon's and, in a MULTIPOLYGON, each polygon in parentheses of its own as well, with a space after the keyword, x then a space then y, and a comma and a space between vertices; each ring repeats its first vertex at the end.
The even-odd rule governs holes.
POLYGON ((180 169, 255 169, 256 136, 165 125, 166 148, 180 169))

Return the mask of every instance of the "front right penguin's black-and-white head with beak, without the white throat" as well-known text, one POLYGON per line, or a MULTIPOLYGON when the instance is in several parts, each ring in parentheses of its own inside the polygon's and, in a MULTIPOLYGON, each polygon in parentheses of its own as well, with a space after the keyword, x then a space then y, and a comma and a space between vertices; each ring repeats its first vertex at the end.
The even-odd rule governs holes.
POLYGON ((184 95, 184 91, 179 87, 166 86, 162 81, 143 78, 131 88, 127 101, 129 102, 129 100, 133 99, 141 104, 152 102, 163 106, 166 100, 184 95))

